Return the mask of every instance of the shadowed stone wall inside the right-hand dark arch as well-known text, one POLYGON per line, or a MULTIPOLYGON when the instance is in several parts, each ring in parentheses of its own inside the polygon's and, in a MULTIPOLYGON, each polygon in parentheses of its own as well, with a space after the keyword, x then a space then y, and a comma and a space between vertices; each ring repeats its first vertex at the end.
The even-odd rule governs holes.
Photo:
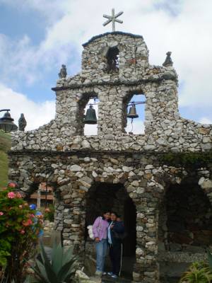
POLYGON ((212 240, 212 207, 198 181, 171 185, 160 208, 161 250, 204 253, 212 240))

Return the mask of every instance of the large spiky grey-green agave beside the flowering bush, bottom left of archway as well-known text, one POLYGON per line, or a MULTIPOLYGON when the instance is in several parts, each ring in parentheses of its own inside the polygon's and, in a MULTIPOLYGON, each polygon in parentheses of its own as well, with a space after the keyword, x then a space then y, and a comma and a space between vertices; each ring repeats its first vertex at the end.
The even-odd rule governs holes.
POLYGON ((73 255, 73 249, 65 250, 61 242, 57 244, 55 241, 49 260, 42 242, 40 248, 40 260, 35 260, 35 267, 32 267, 37 283, 71 282, 77 269, 77 257, 73 255))

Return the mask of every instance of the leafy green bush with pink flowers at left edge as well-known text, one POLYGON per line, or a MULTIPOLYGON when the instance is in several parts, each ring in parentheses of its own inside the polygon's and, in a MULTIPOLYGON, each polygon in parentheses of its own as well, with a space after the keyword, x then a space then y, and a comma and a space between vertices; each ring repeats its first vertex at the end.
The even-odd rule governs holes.
POLYGON ((0 267, 8 282, 23 282, 25 262, 35 250, 41 228, 41 220, 14 183, 0 191, 0 267))

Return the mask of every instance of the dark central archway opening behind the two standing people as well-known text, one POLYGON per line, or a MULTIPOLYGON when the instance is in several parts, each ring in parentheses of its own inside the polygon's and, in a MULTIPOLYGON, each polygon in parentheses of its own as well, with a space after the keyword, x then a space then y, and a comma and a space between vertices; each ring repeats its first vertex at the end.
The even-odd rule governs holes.
MULTIPOLYGON (((114 211, 124 221, 127 236, 123 241, 122 274, 132 277, 136 258, 136 206, 129 197, 123 184, 95 183, 86 195, 86 227, 105 210, 114 211)), ((86 253, 95 256, 93 241, 85 229, 86 253)), ((110 262, 106 262, 110 268, 110 262)))

